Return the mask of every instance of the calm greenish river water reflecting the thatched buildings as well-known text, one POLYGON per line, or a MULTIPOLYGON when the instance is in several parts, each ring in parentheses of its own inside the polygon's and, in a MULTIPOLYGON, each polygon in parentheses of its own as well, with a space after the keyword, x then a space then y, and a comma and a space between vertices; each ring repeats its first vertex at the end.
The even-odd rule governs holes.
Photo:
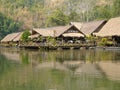
POLYGON ((0 90, 120 90, 120 50, 0 48, 0 90))

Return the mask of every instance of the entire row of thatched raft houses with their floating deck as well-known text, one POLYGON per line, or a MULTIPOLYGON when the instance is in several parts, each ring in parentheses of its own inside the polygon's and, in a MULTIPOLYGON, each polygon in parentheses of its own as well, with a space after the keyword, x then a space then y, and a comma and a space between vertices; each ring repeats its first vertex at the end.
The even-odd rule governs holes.
POLYGON ((88 43, 87 36, 110 38, 119 44, 120 17, 110 20, 91 21, 87 23, 71 22, 66 26, 50 28, 33 28, 29 41, 22 43, 23 32, 8 34, 1 40, 4 46, 18 46, 24 48, 43 49, 80 49, 81 47, 95 47, 97 42, 88 43))

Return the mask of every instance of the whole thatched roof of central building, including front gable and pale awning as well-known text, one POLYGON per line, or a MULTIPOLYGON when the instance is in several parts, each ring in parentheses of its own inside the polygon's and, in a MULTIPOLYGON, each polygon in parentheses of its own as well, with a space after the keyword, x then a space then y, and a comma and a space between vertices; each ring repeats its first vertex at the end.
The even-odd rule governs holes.
POLYGON ((64 37, 81 37, 81 36, 84 37, 84 34, 74 25, 57 26, 57 27, 45 28, 45 29, 34 28, 32 31, 32 35, 34 34, 40 34, 41 36, 44 36, 44 37, 47 37, 47 36, 59 37, 61 35, 64 37), (71 28, 77 29, 78 32, 67 32, 71 28))

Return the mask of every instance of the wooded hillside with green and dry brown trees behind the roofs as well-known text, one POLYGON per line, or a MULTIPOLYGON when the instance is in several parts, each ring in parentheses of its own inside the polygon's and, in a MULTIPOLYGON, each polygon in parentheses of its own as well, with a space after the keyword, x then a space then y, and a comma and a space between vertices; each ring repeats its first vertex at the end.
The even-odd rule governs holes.
POLYGON ((120 0, 0 0, 0 39, 33 27, 120 16, 120 0))

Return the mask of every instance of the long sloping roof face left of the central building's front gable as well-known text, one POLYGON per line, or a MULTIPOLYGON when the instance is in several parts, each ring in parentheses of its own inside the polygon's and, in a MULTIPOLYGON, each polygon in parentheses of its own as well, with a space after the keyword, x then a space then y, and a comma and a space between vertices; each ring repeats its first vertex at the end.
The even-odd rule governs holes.
POLYGON ((67 31, 71 27, 72 27, 72 25, 57 26, 57 27, 51 27, 51 28, 46 28, 46 29, 33 28, 33 31, 39 33, 40 35, 42 35, 44 37, 46 37, 46 36, 59 37, 60 35, 62 35, 65 31, 67 31))

